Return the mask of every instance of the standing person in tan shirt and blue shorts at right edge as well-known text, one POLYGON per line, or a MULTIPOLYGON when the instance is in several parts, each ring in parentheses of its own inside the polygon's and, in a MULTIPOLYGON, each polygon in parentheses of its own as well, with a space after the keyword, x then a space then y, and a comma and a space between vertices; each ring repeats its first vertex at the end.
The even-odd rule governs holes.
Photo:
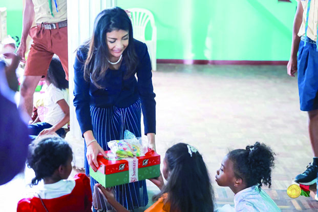
POLYGON ((288 75, 298 71, 300 109, 308 113, 308 130, 313 150, 313 162, 295 182, 311 185, 318 172, 318 0, 298 0, 294 18, 288 75))

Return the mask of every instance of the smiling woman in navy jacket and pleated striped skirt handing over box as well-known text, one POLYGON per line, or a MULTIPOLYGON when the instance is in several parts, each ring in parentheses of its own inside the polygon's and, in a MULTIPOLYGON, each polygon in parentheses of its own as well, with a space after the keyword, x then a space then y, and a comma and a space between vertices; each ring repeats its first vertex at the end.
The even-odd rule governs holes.
MULTIPOLYGON (((97 154, 105 156, 108 141, 123 139, 125 130, 141 136, 141 110, 144 134, 155 150, 156 101, 151 70, 147 47, 133 38, 126 12, 118 7, 101 11, 92 38, 78 48, 74 64, 74 106, 86 143, 86 174, 89 166, 97 171, 97 154)), ((95 184, 91 178, 92 189, 95 184)), ((148 202, 145 180, 115 186, 115 193, 116 200, 128 209, 148 202)))

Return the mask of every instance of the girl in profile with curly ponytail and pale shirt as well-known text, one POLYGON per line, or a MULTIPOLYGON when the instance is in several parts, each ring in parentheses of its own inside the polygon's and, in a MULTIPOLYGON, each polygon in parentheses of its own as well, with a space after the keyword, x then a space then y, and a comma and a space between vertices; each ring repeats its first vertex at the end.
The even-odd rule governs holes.
MULTIPOLYGON (((278 212, 275 202, 261 188, 271 185, 274 153, 265 144, 256 142, 246 149, 229 152, 217 171, 216 182, 234 192, 235 211, 278 212)), ((225 211, 221 210, 220 211, 225 211)))

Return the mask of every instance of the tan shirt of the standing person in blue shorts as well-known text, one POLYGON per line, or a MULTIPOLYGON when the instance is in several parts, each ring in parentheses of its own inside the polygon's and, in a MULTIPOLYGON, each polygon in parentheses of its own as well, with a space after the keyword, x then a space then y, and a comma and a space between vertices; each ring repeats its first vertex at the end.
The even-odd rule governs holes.
MULTIPOLYGON (((306 26, 306 17, 307 17, 307 6, 309 0, 298 0, 301 1, 304 9, 303 13, 303 23, 301 28, 299 29, 298 36, 305 35, 305 26, 306 26)), ((317 23, 318 22, 318 0, 311 0, 310 2, 310 10, 308 17, 308 29, 307 29, 307 37, 316 41, 317 40, 317 23)))

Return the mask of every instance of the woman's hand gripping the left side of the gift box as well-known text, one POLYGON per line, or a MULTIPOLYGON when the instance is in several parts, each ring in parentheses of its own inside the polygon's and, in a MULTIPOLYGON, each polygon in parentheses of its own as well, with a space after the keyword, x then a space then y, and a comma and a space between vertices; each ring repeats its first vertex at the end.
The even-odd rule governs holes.
MULTIPOLYGON (((89 142, 90 141, 87 141, 87 143, 89 142)), ((97 141, 89 143, 87 146, 86 157, 87 157, 88 163, 93 168, 94 172, 97 172, 97 169, 99 167, 97 162, 98 153, 101 153, 104 157, 108 158, 107 154, 102 149, 102 147, 97 143, 97 141)))

